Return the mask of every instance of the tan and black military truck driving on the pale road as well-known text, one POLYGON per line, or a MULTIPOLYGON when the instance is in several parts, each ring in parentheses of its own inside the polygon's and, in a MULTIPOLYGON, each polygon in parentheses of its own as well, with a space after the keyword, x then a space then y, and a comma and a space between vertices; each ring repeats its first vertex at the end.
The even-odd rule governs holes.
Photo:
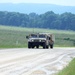
POLYGON ((54 35, 49 33, 33 33, 26 38, 28 39, 28 48, 39 48, 40 46, 43 49, 53 48, 55 42, 54 35))

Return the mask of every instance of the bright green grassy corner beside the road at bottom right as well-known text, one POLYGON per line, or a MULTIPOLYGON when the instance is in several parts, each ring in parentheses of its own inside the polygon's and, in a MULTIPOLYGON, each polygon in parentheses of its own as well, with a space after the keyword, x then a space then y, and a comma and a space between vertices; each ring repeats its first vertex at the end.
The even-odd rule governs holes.
POLYGON ((57 75, 75 75, 75 58, 69 63, 67 67, 61 70, 57 75))

